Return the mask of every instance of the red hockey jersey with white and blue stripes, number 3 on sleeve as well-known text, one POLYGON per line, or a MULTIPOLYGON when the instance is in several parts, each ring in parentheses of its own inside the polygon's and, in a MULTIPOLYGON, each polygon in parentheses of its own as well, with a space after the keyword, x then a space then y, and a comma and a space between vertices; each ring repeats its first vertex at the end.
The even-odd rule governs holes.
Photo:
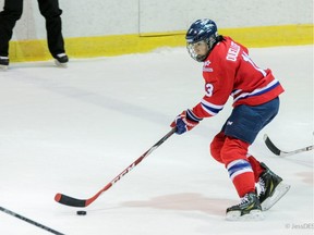
POLYGON ((225 39, 214 47, 203 65, 206 95, 193 108, 201 119, 216 115, 229 96, 233 97, 233 107, 258 106, 283 92, 271 71, 251 60, 247 48, 230 37, 225 39))

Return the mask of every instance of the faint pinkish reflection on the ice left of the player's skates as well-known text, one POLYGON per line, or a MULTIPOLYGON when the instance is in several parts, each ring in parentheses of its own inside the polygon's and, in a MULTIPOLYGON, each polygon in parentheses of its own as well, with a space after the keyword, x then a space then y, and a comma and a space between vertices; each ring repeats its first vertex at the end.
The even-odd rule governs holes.
POLYGON ((125 201, 122 206, 161 210, 201 211, 208 214, 225 215, 226 208, 235 203, 235 200, 208 198, 200 194, 185 193, 154 197, 145 201, 125 201))

